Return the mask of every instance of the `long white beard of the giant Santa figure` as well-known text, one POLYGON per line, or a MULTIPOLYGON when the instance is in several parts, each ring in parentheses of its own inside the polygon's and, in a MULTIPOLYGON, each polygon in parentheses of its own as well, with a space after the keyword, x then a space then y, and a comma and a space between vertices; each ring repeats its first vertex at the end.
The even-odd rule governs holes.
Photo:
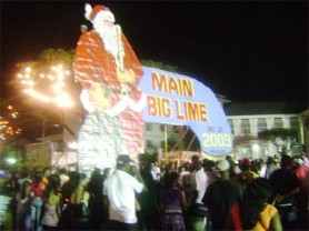
POLYGON ((122 47, 121 34, 118 36, 118 30, 114 24, 100 24, 99 27, 94 26, 96 32, 99 34, 103 41, 106 50, 117 59, 120 52, 120 46, 122 47))

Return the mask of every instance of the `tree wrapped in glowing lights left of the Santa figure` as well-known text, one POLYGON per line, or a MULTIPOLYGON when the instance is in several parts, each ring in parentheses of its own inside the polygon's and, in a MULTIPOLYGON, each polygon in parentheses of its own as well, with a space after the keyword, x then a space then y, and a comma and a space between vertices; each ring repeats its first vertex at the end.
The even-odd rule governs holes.
POLYGON ((17 63, 18 76, 11 83, 20 91, 31 89, 52 98, 59 92, 52 91, 51 87, 61 81, 59 83, 62 87, 61 90, 74 97, 79 94, 80 86, 74 81, 73 56, 74 50, 51 48, 43 50, 37 59, 17 63), (58 69, 59 67, 61 70, 58 69), (61 71, 63 71, 63 78, 60 79, 58 76, 61 71))

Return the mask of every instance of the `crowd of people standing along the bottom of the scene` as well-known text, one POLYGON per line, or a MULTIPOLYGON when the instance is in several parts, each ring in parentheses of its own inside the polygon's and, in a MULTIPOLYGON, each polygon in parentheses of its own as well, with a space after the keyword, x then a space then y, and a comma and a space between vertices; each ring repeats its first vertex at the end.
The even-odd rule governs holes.
POLYGON ((157 164, 119 155, 91 175, 22 169, 6 182, 13 230, 308 230, 308 159, 157 164))

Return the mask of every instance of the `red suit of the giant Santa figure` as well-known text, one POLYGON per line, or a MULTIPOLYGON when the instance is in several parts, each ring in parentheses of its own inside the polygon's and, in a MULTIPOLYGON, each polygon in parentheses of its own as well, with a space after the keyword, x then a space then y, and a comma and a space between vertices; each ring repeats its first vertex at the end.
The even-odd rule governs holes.
MULTIPOLYGON (((121 41, 124 51, 123 68, 124 70, 131 69, 134 73, 134 82, 124 84, 124 93, 123 83, 120 83, 117 77, 116 59, 106 50, 102 39, 94 30, 81 34, 73 63, 76 79, 83 89, 89 90, 93 83, 100 83, 102 88, 106 88, 107 97, 112 102, 109 108, 111 110, 118 103, 121 104, 123 98, 139 102, 142 97, 142 92, 137 88, 143 73, 142 66, 122 32, 121 41)), ((143 147, 142 112, 132 110, 132 107, 127 106, 123 110, 118 111, 114 117, 120 120, 122 135, 129 154, 137 152, 138 149, 143 147)))

